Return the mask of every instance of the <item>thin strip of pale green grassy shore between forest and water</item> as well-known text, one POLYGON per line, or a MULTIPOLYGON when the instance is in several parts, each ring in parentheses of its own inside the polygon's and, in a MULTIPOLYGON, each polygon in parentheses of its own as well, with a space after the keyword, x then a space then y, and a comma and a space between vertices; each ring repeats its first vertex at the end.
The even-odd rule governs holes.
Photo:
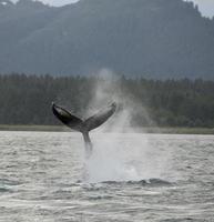
MULTIPOLYGON (((38 132, 70 132, 63 125, 4 125, 0 124, 0 131, 38 131, 38 132)), ((133 132, 132 130, 116 130, 116 132, 133 132)), ((136 128, 136 133, 161 133, 161 134, 214 134, 210 128, 136 128)))

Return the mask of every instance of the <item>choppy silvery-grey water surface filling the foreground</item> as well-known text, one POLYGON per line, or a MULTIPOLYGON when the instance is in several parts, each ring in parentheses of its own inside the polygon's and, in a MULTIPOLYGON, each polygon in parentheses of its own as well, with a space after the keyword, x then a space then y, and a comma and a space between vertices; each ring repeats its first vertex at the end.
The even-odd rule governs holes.
POLYGON ((0 221, 214 221, 214 137, 0 132, 0 221), (86 174, 86 176, 85 176, 86 174))

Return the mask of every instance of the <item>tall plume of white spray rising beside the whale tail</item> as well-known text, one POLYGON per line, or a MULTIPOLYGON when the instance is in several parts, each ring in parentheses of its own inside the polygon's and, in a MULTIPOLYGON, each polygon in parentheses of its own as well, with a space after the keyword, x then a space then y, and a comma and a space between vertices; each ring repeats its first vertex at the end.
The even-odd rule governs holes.
POLYGON ((95 183, 154 178, 167 180, 164 174, 170 168, 172 153, 152 147, 144 133, 141 138, 136 137, 131 124, 133 113, 136 112, 143 112, 145 118, 150 119, 145 108, 134 101, 129 92, 122 93, 121 79, 119 80, 111 71, 102 70, 96 80, 88 114, 105 108, 111 102, 116 102, 118 110, 106 123, 90 132, 93 153, 90 159, 85 159, 84 181, 95 183), (119 133, 126 130, 126 137, 119 133))

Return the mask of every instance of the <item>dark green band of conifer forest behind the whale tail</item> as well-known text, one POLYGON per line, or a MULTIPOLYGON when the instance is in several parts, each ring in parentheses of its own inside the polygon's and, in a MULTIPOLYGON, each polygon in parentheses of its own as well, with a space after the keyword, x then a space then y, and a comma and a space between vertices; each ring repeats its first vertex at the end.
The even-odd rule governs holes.
POLYGON ((0 75, 0 124, 59 124, 52 101, 81 114, 102 94, 132 101, 134 127, 214 128, 214 81, 26 74, 0 75))

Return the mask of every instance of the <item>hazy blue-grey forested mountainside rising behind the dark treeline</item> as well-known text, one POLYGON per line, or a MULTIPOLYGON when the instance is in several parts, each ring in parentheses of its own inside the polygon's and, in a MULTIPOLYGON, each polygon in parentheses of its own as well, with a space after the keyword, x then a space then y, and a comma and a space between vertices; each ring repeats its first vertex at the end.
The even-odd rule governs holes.
POLYGON ((0 0, 0 73, 214 79, 214 21, 182 0, 0 0))

